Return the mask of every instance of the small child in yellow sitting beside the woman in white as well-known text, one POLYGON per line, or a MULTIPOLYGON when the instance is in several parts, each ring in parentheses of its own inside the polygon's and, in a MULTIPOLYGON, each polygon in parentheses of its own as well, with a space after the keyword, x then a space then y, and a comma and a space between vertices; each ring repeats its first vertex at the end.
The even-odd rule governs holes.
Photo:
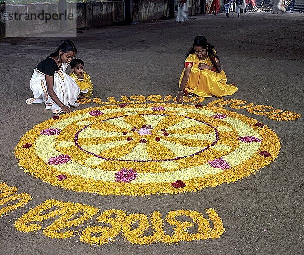
POLYGON ((90 97, 93 95, 93 84, 90 79, 90 75, 84 70, 85 63, 81 59, 73 59, 71 61, 72 73, 70 76, 76 81, 81 91, 88 91, 86 93, 81 92, 79 98, 90 97))

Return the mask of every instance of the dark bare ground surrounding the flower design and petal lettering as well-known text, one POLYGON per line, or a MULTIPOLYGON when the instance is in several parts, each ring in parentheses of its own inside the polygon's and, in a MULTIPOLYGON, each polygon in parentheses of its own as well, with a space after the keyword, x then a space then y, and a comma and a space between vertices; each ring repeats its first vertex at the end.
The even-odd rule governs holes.
MULTIPOLYGON (((176 95, 184 56, 197 35, 216 46, 222 68, 239 91, 225 99, 269 105, 303 115, 304 14, 233 13, 194 16, 84 30, 70 38, 94 84, 94 97, 176 95)), ((19 139, 53 115, 43 104, 27 105, 35 65, 56 50, 62 38, 0 40, 2 65, 0 180, 33 199, 0 218, 2 254, 303 254, 303 119, 274 121, 244 109, 229 109, 267 124, 281 139, 275 162, 236 183, 178 195, 100 196, 51 186, 24 173, 14 157, 19 139), (133 245, 119 236, 93 246, 78 237, 51 239, 22 233, 14 221, 46 199, 83 203, 128 212, 215 208, 223 220, 219 239, 178 244, 133 245)), ((204 105, 216 100, 207 98, 204 105)), ((81 105, 79 109, 96 106, 81 105)), ((1 208, 1 207, 0 207, 1 208)))

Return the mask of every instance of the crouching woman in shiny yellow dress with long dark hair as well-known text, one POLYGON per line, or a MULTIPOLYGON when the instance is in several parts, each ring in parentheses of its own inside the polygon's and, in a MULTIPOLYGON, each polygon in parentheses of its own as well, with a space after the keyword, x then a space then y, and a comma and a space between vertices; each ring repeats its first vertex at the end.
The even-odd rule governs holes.
POLYGON ((227 83, 225 72, 220 67, 214 46, 203 36, 194 39, 187 54, 184 70, 179 79, 177 102, 183 103, 183 96, 222 97, 237 92, 235 85, 227 83))

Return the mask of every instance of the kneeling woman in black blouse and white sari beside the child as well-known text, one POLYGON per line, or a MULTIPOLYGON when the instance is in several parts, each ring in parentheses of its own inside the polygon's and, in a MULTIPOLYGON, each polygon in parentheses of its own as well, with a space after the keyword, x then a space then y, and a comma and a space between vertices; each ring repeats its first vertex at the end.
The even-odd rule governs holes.
POLYGON ((70 107, 79 106, 76 100, 80 89, 64 72, 76 53, 72 41, 63 41, 57 51, 37 65, 30 80, 34 97, 27 99, 27 104, 45 103, 46 109, 55 114, 67 113, 70 107))

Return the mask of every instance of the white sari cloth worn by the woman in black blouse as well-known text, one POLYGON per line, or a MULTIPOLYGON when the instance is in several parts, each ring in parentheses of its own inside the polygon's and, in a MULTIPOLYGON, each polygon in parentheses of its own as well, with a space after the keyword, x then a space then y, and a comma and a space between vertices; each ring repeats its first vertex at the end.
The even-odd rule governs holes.
MULTIPOLYGON (((64 105, 78 107, 79 103, 77 103, 76 100, 80 93, 80 88, 75 80, 64 72, 67 66, 68 64, 63 63, 61 69, 55 72, 53 90, 64 105)), ((45 103, 46 109, 51 110, 53 113, 60 114, 62 112, 59 105, 57 105, 48 94, 45 74, 37 70, 37 68, 35 68, 31 77, 30 89, 34 97, 28 98, 26 100, 27 104, 45 103)))

